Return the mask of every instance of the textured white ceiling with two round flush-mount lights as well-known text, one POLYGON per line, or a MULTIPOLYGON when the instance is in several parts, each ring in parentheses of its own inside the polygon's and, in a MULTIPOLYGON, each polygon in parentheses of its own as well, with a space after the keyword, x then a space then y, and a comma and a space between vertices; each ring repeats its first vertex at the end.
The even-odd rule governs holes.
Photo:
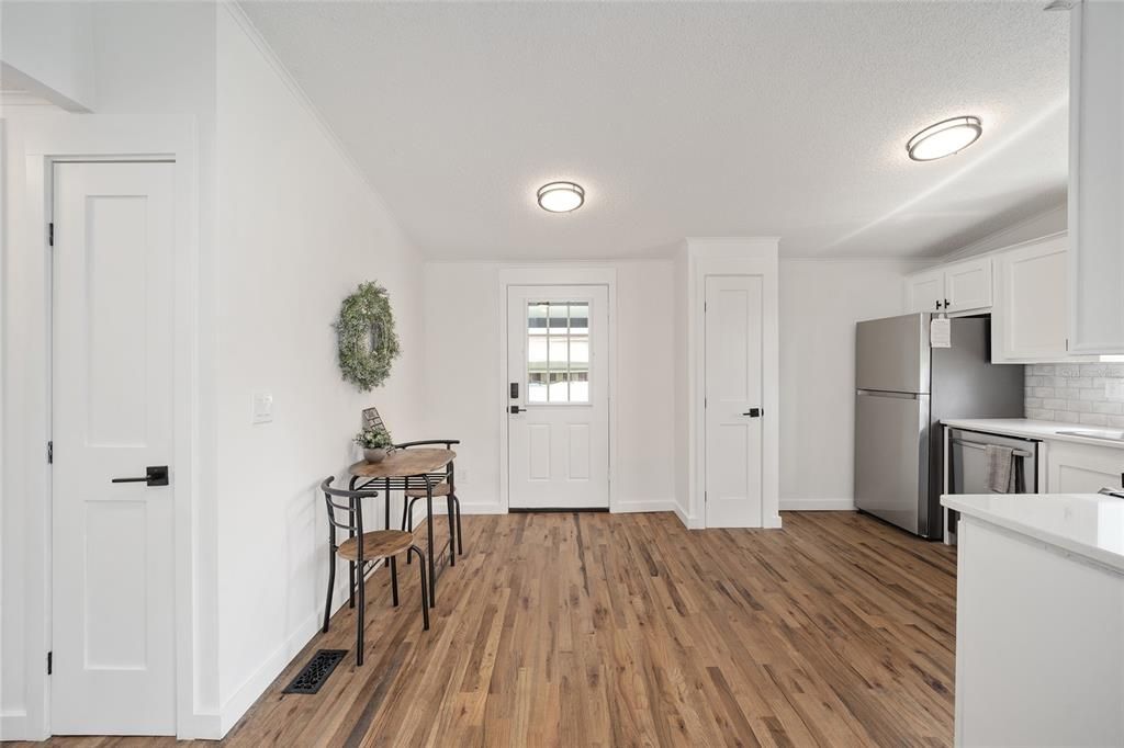
POLYGON ((417 245, 475 259, 939 255, 1058 204, 1069 20, 1044 4, 243 2, 417 245), (961 113, 976 145, 906 157, 961 113), (581 210, 535 206, 558 179, 581 210))

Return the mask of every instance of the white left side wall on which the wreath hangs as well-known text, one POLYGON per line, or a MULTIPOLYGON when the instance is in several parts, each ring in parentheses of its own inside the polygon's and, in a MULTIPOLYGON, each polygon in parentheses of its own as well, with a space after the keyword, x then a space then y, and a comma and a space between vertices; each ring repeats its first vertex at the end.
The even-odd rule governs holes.
POLYGON ((397 435, 425 436, 425 371, 420 259, 381 201, 225 12, 217 71, 219 693, 228 729, 319 621, 327 524, 316 487, 360 457, 350 437, 368 405, 397 435), (330 323, 368 280, 390 292, 404 354, 387 386, 364 394, 341 378, 330 323), (273 394, 272 423, 251 423, 255 389, 273 394))

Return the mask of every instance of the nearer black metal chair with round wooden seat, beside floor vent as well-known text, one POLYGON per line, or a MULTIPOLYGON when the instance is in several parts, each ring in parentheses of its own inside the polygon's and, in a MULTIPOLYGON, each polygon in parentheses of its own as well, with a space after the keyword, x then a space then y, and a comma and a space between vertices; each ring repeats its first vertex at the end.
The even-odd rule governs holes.
POLYGON ((425 578, 425 555, 422 549, 414 545, 414 536, 402 530, 373 530, 363 531, 363 499, 379 495, 378 491, 347 491, 344 489, 333 489, 332 482, 335 478, 328 477, 320 484, 324 492, 324 501, 328 510, 328 595, 324 604, 324 632, 328 630, 328 622, 332 620, 332 593, 336 586, 336 556, 346 558, 351 569, 351 591, 348 594, 350 604, 355 606, 356 590, 359 593, 359 611, 355 615, 355 664, 363 664, 363 614, 366 610, 365 589, 368 564, 374 564, 380 558, 389 559, 390 565, 390 590, 391 600, 398 606, 398 564, 396 556, 402 551, 409 558, 410 554, 418 555, 418 574, 422 577, 422 628, 429 630, 429 605, 426 596, 425 578), (347 504, 337 504, 332 499, 346 499, 347 504), (343 512, 347 520, 341 522, 336 519, 336 512, 343 512), (341 544, 336 542, 336 529, 346 530, 347 539, 341 544), (357 572, 357 574, 356 574, 357 572))

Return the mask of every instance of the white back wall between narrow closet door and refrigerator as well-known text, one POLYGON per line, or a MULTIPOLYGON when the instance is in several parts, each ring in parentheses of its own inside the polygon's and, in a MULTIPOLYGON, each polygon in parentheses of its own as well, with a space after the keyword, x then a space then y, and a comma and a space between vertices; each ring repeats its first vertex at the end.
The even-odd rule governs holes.
POLYGON ((903 313, 923 263, 780 263, 782 510, 854 508, 854 323, 903 313))

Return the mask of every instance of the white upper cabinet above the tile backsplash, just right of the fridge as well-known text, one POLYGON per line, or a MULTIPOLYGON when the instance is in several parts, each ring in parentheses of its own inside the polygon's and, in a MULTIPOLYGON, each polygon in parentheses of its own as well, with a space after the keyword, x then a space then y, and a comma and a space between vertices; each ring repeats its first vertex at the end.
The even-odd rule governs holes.
POLYGON ((1066 236, 1059 236, 1008 249, 996 257, 992 361, 1067 358, 1066 247, 1066 236))

